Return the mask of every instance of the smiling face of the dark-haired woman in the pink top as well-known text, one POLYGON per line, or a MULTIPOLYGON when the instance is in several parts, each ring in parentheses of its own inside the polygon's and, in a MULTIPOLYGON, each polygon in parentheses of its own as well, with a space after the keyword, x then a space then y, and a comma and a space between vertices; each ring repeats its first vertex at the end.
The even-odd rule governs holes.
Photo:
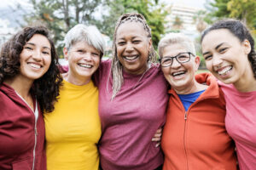
POLYGON ((210 31, 201 44, 207 69, 220 81, 236 83, 252 72, 247 59, 250 43, 247 40, 240 42, 229 30, 210 31))

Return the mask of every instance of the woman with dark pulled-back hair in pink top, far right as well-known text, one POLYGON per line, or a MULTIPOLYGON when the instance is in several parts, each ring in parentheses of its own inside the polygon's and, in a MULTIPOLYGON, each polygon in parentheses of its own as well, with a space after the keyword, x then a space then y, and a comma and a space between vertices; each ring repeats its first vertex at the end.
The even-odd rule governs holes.
POLYGON ((225 127, 236 142, 241 169, 256 167, 256 54, 253 37, 239 20, 221 20, 204 31, 207 69, 226 100, 225 127))

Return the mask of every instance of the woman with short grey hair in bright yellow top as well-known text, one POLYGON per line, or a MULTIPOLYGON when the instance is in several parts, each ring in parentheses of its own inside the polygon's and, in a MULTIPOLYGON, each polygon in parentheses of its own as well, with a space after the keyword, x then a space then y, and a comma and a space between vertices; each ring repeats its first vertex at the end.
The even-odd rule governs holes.
POLYGON ((102 135, 98 88, 92 81, 105 42, 95 26, 74 26, 67 32, 63 53, 69 69, 55 111, 45 114, 48 170, 97 170, 97 143, 102 135))

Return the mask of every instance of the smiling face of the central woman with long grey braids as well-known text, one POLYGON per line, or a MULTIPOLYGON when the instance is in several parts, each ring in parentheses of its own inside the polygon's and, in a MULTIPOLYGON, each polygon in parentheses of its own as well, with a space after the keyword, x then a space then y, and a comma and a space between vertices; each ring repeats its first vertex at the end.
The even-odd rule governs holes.
POLYGON ((116 51, 126 72, 142 74, 147 70, 147 60, 152 42, 139 22, 125 22, 116 33, 116 51))

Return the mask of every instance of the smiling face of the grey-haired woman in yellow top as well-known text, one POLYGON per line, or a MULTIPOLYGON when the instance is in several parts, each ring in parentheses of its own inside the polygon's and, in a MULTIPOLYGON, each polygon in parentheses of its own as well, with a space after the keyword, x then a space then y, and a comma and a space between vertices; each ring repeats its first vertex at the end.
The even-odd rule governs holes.
POLYGON ((64 48, 65 58, 68 60, 68 77, 70 82, 90 82, 91 76, 100 65, 100 51, 87 42, 76 42, 72 48, 64 48))

